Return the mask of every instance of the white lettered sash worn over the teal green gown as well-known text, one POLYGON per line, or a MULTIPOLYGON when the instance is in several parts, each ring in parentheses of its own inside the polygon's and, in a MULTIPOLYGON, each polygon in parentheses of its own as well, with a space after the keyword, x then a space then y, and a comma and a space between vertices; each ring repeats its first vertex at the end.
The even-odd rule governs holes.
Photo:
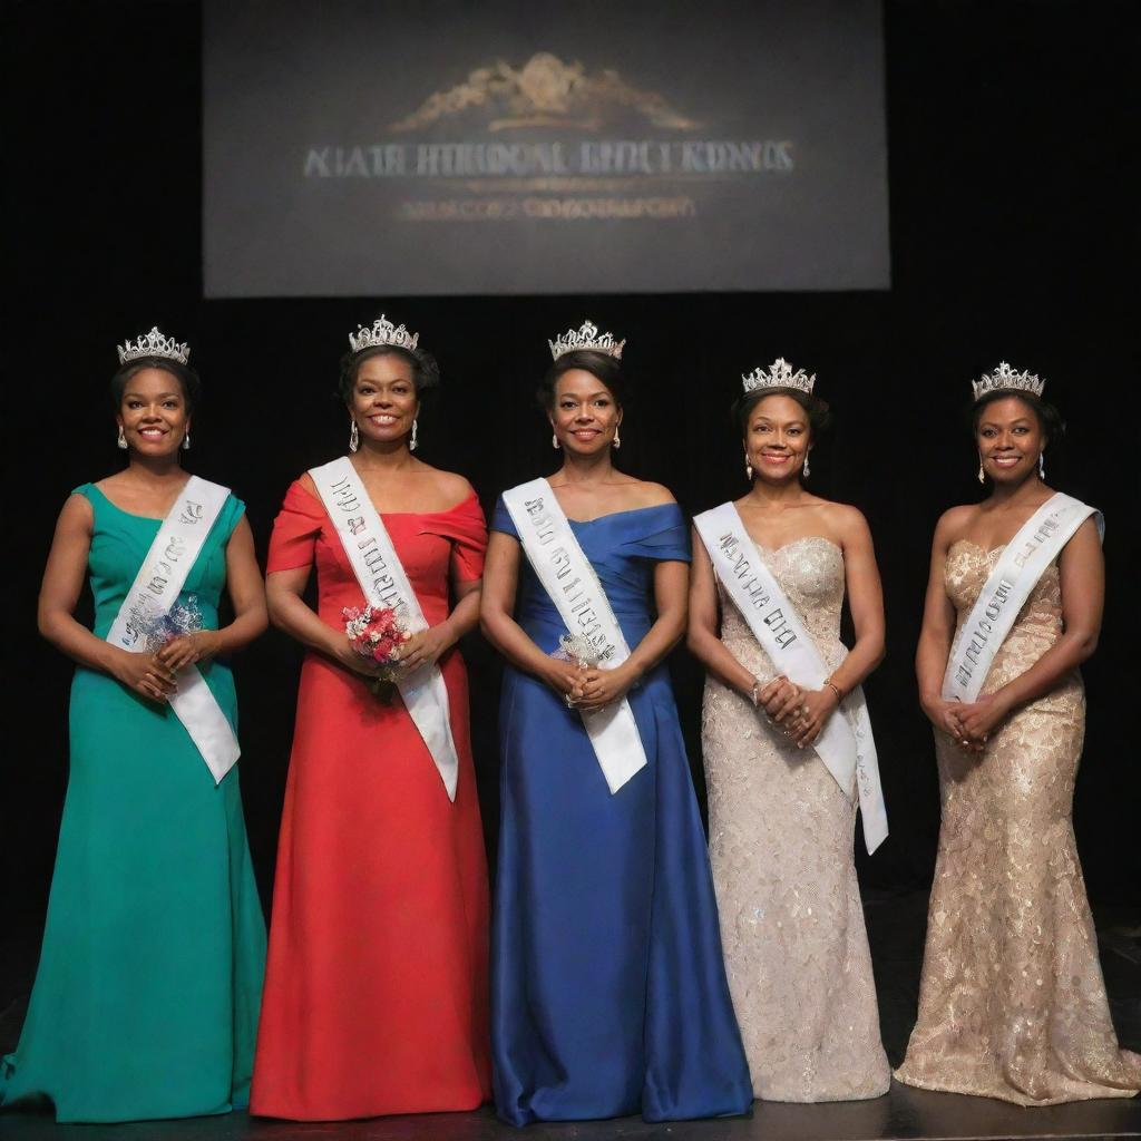
MULTIPOLYGON (((228 497, 229 488, 221 484, 197 476, 186 482, 107 631, 112 646, 132 654, 146 652, 147 626, 178 600, 228 497)), ((242 751, 233 727, 196 666, 178 671, 178 691, 170 695, 170 707, 202 754, 215 784, 220 784, 242 751)))

